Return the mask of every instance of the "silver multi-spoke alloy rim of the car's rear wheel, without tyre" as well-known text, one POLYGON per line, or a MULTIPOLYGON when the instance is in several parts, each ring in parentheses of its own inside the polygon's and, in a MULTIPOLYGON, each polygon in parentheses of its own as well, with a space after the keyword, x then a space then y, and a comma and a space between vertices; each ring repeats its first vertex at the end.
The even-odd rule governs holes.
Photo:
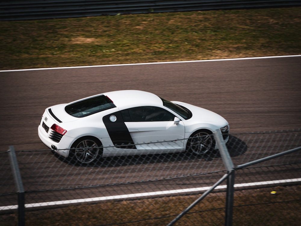
POLYGON ((93 162, 100 150, 98 144, 90 139, 80 141, 75 148, 75 157, 81 163, 93 162))

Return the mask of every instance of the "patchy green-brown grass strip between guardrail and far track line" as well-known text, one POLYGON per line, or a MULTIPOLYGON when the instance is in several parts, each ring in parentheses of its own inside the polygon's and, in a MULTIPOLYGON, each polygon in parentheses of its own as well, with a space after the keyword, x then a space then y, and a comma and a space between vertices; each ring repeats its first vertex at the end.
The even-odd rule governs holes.
POLYGON ((0 70, 301 54, 301 7, 0 21, 0 70))

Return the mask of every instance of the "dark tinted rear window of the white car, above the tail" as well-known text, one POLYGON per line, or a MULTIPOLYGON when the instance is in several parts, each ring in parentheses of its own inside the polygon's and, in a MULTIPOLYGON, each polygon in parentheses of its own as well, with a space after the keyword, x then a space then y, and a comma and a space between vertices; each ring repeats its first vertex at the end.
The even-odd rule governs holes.
POLYGON ((100 95, 69 104, 65 107, 65 111, 69 115, 82 118, 114 107, 115 104, 109 98, 100 95))

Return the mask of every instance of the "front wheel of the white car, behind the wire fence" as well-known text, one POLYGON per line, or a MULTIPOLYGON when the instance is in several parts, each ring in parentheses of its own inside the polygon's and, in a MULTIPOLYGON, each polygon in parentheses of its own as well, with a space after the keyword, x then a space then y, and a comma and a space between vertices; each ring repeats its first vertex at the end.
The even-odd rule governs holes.
POLYGON ((197 132, 189 140, 188 148, 197 155, 212 151, 215 146, 214 138, 208 132, 197 132))

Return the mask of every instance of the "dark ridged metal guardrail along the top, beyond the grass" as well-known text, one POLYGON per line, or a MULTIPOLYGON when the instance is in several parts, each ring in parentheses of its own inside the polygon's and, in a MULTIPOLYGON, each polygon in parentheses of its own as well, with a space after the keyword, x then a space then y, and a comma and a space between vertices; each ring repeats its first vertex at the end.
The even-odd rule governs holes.
POLYGON ((6 0, 0 2, 0 20, 291 6, 301 6, 301 0, 6 0))

